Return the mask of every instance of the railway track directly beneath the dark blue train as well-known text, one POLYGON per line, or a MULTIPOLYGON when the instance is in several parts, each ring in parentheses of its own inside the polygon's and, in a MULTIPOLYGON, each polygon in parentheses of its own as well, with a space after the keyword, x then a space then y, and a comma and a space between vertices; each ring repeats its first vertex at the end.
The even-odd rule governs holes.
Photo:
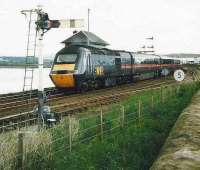
MULTIPOLYGON (((46 90, 46 92, 51 92, 51 95, 47 99, 47 102, 48 102, 48 105, 50 106, 63 104, 64 102, 69 103, 73 100, 75 101, 79 100, 80 98, 82 98, 82 96, 83 98, 85 98, 85 97, 90 97, 91 95, 99 95, 104 92, 108 94, 114 90, 124 90, 125 88, 130 88, 130 87, 137 88, 137 86, 141 86, 141 83, 142 85, 145 85, 145 84, 151 83, 151 81, 152 80, 145 80, 143 82, 131 83, 131 84, 126 84, 126 85, 117 86, 113 88, 90 91, 88 93, 84 93, 84 96, 82 94, 73 94, 73 93, 68 93, 68 95, 66 95, 59 91, 55 92, 53 91, 54 89, 52 90, 53 92, 50 91, 50 89, 48 89, 48 91, 46 90)), ((160 80, 153 80, 153 83, 157 81, 160 81, 160 80)), ((38 103, 37 91, 33 93, 33 96, 31 99, 24 98, 21 95, 18 95, 17 97, 16 95, 14 96, 12 95, 8 99, 6 99, 6 101, 1 101, 1 98, 0 98, 0 118, 5 117, 5 116, 10 116, 10 115, 15 115, 17 113, 29 112, 34 107, 36 107, 37 103, 38 103)))

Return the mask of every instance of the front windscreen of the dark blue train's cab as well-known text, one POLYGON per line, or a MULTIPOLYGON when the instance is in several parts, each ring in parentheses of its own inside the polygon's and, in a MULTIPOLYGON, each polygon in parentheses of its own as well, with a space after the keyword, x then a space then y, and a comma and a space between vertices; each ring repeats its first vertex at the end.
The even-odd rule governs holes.
POLYGON ((77 54, 59 54, 56 63, 75 63, 77 54))

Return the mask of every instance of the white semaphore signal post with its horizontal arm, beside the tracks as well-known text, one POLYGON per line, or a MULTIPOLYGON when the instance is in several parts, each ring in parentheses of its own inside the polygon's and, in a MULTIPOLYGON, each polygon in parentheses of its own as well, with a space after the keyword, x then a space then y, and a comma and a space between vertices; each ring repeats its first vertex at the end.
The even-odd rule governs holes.
MULTIPOLYGON (((44 121, 49 123, 54 122, 55 119, 44 120, 50 109, 44 106, 46 94, 43 87, 43 37, 44 34, 52 28, 82 28, 84 27, 84 19, 67 19, 67 20, 50 20, 48 13, 44 12, 42 8, 31 10, 22 10, 22 14, 36 14, 37 20, 35 21, 36 36, 38 36, 38 68, 39 68, 39 82, 38 82, 38 125, 39 129, 44 125, 44 121)), ((31 18, 31 17, 30 17, 31 18)), ((31 22, 31 20, 30 20, 31 22)), ((30 25, 29 22, 29 25, 30 25)), ((35 44, 36 46, 36 44, 35 44)), ((31 82, 32 83, 32 82, 31 82)), ((32 85, 31 85, 32 87, 32 85)), ((49 108, 49 107, 48 107, 49 108)))

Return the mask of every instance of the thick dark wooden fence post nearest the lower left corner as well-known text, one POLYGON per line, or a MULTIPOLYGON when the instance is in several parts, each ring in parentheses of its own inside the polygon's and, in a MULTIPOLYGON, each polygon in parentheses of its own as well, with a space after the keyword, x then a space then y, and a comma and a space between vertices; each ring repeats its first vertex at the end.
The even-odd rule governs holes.
POLYGON ((18 133, 18 144, 17 144, 17 169, 23 170, 23 137, 22 132, 18 133))

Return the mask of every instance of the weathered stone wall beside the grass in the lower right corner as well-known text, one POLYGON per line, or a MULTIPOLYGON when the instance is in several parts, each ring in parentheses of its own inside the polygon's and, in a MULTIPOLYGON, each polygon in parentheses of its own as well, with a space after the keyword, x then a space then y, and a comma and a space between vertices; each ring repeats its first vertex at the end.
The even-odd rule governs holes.
POLYGON ((200 91, 183 111, 151 170, 200 170, 200 91))

